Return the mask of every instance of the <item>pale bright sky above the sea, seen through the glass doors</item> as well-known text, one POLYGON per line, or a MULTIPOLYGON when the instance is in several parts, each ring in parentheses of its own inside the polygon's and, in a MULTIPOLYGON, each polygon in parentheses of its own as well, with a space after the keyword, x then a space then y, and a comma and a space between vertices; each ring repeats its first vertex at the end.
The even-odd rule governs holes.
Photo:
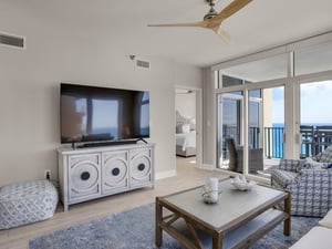
MULTIPOLYGON (((332 124, 332 81, 301 84, 301 124, 332 124)), ((273 89, 273 123, 283 123, 283 87, 273 89)))

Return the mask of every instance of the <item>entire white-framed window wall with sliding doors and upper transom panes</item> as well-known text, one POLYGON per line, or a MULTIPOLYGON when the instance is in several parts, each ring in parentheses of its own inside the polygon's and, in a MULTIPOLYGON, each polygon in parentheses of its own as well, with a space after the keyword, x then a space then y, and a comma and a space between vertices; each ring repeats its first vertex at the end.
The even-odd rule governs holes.
POLYGON ((259 169, 278 164, 271 159, 312 156, 332 145, 332 117, 326 115, 332 105, 331 40, 332 33, 322 34, 212 66, 219 81, 217 167, 231 168, 229 137, 246 151, 243 174, 262 177, 259 169), (262 166, 252 160, 252 149, 261 149, 262 166))

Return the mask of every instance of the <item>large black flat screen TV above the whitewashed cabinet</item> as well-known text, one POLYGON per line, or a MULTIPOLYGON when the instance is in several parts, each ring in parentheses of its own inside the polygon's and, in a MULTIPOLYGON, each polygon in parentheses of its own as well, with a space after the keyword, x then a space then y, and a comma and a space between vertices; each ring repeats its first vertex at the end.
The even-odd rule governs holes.
POLYGON ((61 83, 61 143, 149 137, 149 93, 61 83))

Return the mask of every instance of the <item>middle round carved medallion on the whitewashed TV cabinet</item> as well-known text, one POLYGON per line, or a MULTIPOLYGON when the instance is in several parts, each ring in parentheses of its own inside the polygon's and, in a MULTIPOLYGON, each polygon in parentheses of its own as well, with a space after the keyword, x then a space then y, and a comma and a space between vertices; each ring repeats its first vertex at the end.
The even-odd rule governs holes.
POLYGON ((127 164, 122 158, 112 158, 104 164, 104 181, 117 186, 127 178, 127 164))

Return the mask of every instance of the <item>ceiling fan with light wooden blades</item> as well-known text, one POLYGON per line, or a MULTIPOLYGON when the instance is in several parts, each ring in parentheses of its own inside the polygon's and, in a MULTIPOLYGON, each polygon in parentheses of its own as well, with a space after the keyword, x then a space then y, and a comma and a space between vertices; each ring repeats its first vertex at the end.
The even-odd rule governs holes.
POLYGON ((210 6, 210 10, 207 14, 204 15, 203 21, 189 22, 189 23, 169 23, 169 24, 149 24, 148 27, 199 27, 212 30, 225 41, 229 41, 229 34, 224 31, 220 27, 221 22, 225 21, 230 15, 238 12, 240 9, 246 7, 252 0, 234 0, 219 13, 215 10, 215 4, 218 0, 204 0, 207 4, 210 6))

